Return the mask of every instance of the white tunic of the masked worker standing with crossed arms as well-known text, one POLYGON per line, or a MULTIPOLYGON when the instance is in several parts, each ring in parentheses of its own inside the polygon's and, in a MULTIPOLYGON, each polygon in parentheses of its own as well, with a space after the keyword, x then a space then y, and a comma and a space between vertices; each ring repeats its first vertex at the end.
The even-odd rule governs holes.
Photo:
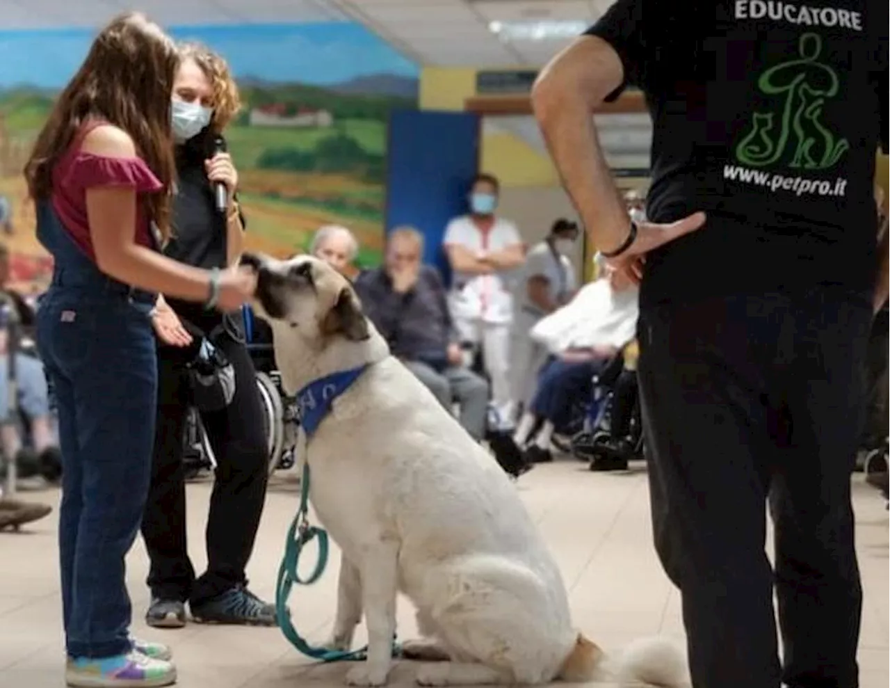
MULTIPOLYGON (((495 217, 489 231, 482 231, 469 215, 454 218, 445 228, 442 243, 464 247, 473 255, 498 253, 522 244, 516 225, 495 217)), ((455 320, 481 320, 492 325, 513 320, 513 295, 506 276, 510 271, 477 275, 455 271, 449 294, 451 316, 455 320)))

